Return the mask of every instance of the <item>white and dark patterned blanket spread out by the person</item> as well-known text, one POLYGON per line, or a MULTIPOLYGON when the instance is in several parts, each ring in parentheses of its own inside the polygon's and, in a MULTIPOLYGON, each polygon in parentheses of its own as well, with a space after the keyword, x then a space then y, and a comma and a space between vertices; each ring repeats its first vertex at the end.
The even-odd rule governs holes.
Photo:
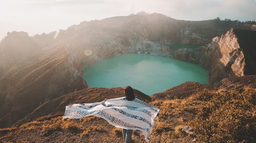
POLYGON ((125 97, 121 97, 97 103, 66 106, 63 118, 100 117, 118 128, 140 130, 146 141, 149 141, 148 136, 151 134, 158 112, 158 108, 137 98, 128 101, 125 97))

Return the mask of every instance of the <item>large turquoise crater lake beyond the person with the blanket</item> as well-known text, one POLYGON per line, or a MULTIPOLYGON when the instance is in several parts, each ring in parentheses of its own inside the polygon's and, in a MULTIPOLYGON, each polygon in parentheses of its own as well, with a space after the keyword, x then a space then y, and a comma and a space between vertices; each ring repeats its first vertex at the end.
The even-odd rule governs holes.
POLYGON ((150 54, 123 54, 86 68, 89 87, 115 88, 130 85, 153 95, 186 81, 207 84, 208 72, 198 65, 150 54))

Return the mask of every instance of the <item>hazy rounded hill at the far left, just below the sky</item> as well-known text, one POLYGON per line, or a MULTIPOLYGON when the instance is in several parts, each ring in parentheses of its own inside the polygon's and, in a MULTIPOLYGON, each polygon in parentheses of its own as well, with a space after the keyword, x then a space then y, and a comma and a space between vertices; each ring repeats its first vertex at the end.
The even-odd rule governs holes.
POLYGON ((7 33, 0 43, 0 77, 10 69, 35 59, 41 46, 25 32, 7 33))

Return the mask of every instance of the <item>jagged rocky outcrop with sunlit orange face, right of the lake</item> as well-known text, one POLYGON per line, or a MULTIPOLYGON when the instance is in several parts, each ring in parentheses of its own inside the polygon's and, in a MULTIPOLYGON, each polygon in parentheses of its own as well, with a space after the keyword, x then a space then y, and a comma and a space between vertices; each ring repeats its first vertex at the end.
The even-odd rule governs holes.
POLYGON ((198 64, 209 71, 209 84, 226 77, 256 74, 256 32, 231 29, 199 49, 179 49, 173 58, 198 64))

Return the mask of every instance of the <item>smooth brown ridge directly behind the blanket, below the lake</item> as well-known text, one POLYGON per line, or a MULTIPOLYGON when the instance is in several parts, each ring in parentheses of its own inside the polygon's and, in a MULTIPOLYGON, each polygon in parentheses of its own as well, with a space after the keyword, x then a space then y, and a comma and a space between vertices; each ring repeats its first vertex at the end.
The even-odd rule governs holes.
MULTIPOLYGON (((151 101, 151 98, 142 92, 134 89, 135 96, 144 101, 151 101)), ((62 115, 65 111, 67 105, 75 103, 94 103, 100 102, 104 99, 112 99, 123 97, 124 91, 122 88, 87 88, 74 93, 63 95, 59 98, 50 100, 38 108, 36 108, 32 113, 30 113, 26 118, 18 121, 17 124, 28 122, 28 120, 33 120, 38 117, 62 115)))

